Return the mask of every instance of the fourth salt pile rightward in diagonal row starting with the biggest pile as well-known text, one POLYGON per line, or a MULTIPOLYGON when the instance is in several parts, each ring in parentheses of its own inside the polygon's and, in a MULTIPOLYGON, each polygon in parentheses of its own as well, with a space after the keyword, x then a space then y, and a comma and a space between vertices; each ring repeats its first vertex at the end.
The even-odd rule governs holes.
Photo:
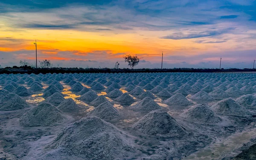
POLYGON ((250 116, 250 112, 236 103, 232 98, 223 99, 212 105, 212 110, 216 113, 228 114, 233 116, 250 116))

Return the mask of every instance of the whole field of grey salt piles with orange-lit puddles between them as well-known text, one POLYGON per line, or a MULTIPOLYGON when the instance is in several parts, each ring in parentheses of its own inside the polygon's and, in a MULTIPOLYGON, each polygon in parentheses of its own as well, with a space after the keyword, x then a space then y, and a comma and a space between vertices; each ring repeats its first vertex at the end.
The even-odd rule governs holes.
POLYGON ((230 160, 255 120, 255 73, 0 75, 0 160, 230 160))

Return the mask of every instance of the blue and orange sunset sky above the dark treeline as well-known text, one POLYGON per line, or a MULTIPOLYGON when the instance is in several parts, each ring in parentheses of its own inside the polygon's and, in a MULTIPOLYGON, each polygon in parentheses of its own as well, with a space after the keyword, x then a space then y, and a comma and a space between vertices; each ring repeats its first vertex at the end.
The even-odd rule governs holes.
POLYGON ((0 65, 252 68, 255 0, 0 0, 0 65), (38 62, 39 63, 39 62, 38 62))

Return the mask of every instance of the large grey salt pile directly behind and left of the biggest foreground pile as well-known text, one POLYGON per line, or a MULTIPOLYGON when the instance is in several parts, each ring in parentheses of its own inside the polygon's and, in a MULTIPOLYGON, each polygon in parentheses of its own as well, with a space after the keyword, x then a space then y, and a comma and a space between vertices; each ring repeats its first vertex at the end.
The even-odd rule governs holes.
POLYGON ((20 117, 20 125, 26 127, 52 126, 65 121, 67 121, 67 116, 47 102, 39 104, 20 117))

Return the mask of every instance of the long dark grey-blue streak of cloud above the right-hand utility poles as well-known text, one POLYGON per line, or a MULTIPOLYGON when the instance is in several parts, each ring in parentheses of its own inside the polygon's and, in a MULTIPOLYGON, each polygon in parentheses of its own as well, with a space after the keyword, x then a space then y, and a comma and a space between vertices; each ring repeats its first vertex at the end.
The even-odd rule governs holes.
POLYGON ((201 37, 209 37, 209 36, 215 36, 215 35, 222 35, 225 33, 229 33, 230 31, 233 31, 236 28, 227 28, 227 29, 220 29, 215 31, 205 31, 205 32, 199 32, 199 33, 189 33, 189 34, 183 34, 183 32, 173 33, 172 35, 160 37, 161 39, 173 39, 173 40, 180 40, 180 39, 191 39, 191 38, 201 38, 201 37))

